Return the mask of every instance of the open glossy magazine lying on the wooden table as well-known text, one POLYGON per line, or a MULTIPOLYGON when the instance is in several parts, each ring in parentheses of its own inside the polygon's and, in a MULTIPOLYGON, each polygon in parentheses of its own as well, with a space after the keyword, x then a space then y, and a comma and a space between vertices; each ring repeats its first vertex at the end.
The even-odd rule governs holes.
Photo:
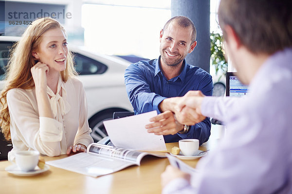
POLYGON ((92 143, 87 152, 82 152, 64 159, 46 162, 51 166, 63 168, 83 175, 98 177, 122 170, 131 165, 139 165, 142 158, 152 155, 165 158, 162 152, 141 152, 121 147, 92 143))

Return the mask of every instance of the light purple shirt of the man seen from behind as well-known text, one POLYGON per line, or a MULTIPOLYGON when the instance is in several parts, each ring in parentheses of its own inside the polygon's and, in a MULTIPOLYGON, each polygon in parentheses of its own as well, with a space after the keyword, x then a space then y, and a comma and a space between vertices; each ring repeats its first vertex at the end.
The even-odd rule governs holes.
POLYGON ((163 194, 292 194, 292 48, 260 67, 246 97, 205 97, 201 111, 225 137, 198 162, 198 187, 180 178, 163 194))

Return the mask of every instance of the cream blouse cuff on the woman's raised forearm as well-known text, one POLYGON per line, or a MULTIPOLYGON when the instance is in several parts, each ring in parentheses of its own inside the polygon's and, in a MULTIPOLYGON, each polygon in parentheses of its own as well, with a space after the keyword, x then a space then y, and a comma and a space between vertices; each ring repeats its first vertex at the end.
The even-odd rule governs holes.
POLYGON ((39 117, 39 134, 41 141, 60 142, 63 137, 63 125, 49 117, 39 117))

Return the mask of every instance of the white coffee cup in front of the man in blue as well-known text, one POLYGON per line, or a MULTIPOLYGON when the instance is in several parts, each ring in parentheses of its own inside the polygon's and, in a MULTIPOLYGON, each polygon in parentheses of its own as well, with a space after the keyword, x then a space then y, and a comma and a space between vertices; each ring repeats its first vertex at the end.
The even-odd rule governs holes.
POLYGON ((193 156, 199 149, 198 139, 179 140, 180 149, 185 156, 193 156))

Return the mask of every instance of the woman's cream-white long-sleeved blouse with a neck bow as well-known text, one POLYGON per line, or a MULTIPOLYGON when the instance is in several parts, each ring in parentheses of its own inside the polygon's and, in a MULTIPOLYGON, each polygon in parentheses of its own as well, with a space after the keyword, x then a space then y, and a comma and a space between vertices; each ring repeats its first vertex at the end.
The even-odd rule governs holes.
POLYGON ((7 93, 13 150, 37 150, 48 156, 65 154, 69 146, 93 142, 82 82, 58 81, 56 95, 47 86, 55 119, 40 117, 36 90, 14 88, 7 93), (62 90, 62 97, 59 91, 62 90))

